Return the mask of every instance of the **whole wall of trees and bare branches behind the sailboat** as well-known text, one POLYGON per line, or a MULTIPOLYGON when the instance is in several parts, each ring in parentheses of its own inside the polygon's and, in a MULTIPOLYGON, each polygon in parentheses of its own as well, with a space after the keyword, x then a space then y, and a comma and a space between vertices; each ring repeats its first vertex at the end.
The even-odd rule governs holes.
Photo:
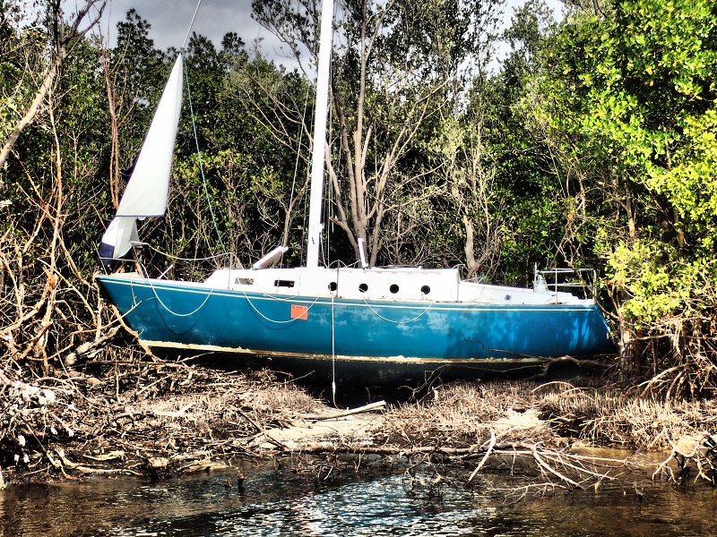
MULTIPOLYGON (((0 332, 9 360, 46 371, 115 322, 96 244, 177 55, 141 11, 114 47, 92 37, 104 4, 32 17, 0 0, 0 332)), ((533 263, 595 268, 631 374, 712 389, 713 2, 571 0, 555 21, 531 0, 505 28, 501 0, 337 5, 324 263, 355 262, 362 238, 372 265, 509 284, 533 263)), ((317 3, 253 9, 297 68, 237 34, 191 37, 172 199, 142 230, 155 268, 194 260, 177 277, 277 244, 304 255, 317 3)))

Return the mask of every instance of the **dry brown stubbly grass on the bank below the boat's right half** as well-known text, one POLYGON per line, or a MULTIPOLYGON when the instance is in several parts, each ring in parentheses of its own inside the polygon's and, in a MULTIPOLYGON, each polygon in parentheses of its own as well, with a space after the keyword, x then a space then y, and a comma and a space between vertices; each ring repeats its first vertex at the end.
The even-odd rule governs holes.
POLYGON ((417 444, 440 439, 470 445, 489 437, 496 422, 530 409, 539 413, 549 430, 517 429, 507 438, 669 451, 686 434, 717 430, 713 400, 669 402, 614 388, 513 381, 436 388, 419 403, 389 410, 382 432, 385 439, 417 444))

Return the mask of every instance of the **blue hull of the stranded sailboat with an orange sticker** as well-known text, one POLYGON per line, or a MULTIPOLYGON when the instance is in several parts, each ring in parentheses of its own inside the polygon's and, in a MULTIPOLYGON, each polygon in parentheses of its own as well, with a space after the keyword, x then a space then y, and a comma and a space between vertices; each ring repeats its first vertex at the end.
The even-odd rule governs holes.
POLYGON ((151 346, 282 359, 501 369, 615 352, 595 305, 487 305, 307 298, 102 276, 151 346))

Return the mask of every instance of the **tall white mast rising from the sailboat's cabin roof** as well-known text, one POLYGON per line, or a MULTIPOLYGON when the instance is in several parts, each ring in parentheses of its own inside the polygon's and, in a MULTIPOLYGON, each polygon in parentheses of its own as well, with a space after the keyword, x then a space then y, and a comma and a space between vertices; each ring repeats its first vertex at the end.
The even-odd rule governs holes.
POLYGON ((329 73, 331 68, 333 33, 333 0, 324 0, 321 9, 319 64, 316 72, 316 108, 314 117, 314 150, 311 156, 311 193, 308 209, 307 268, 319 266, 321 246, 321 212, 324 197, 324 155, 326 146, 326 117, 329 102, 329 73))

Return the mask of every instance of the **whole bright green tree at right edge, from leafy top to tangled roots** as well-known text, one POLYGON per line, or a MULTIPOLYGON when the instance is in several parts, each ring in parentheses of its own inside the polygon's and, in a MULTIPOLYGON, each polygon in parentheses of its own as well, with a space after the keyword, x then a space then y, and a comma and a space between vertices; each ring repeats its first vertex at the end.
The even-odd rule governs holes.
POLYGON ((641 336, 624 339, 632 355, 652 341, 653 371, 686 371, 697 393, 713 382, 717 307, 717 10, 625 0, 602 13, 569 14, 523 103, 580 184, 619 328, 641 336))

